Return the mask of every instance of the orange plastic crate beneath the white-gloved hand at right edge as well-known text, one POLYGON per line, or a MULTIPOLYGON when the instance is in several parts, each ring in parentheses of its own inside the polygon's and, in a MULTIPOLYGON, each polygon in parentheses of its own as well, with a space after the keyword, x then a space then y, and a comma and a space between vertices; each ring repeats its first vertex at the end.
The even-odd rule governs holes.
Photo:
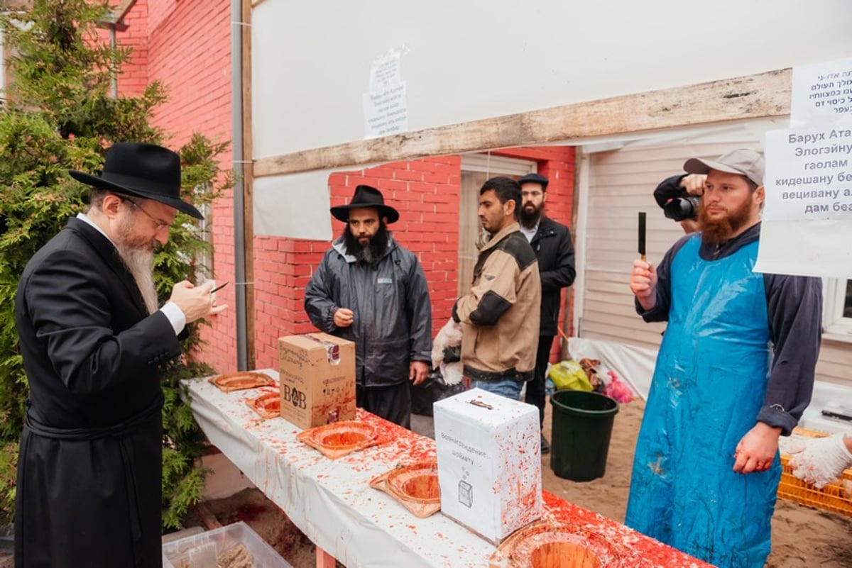
MULTIPOLYGON (((803 438, 822 438, 827 434, 803 428, 793 429, 792 435, 803 438)), ((832 513, 852 516, 852 469, 843 470, 838 480, 822 489, 798 479, 792 474, 791 456, 781 454, 781 480, 778 497, 832 513)))

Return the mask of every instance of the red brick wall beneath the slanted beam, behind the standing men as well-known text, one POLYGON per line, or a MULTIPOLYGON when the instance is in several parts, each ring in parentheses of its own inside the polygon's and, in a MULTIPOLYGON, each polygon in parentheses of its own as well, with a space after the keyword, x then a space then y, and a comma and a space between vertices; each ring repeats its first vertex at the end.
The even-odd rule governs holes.
MULTIPOLYGON (((561 223, 571 224, 572 147, 517 148, 493 153, 538 162, 538 172, 550 179, 548 213, 561 223)), ((437 333, 452 313, 458 287, 460 156, 334 173, 329 178, 331 206, 347 203, 359 184, 377 187, 385 202, 400 211, 400 220, 390 228, 394 238, 417 254, 423 265, 432 300, 432 331, 437 333)), ((333 218, 331 225, 336 238, 344 225, 333 218)), ((259 237, 255 246, 256 366, 277 368, 277 338, 315 331, 303 309, 304 288, 331 242, 259 237)), ((555 345, 554 354, 558 355, 558 344, 555 345)))

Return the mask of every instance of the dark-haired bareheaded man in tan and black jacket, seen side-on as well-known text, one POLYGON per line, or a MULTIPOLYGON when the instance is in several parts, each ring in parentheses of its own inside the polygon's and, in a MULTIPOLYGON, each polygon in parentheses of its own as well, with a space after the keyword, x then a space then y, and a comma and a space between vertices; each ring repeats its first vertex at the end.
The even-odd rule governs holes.
POLYGON ((479 387, 518 400, 535 373, 541 281, 538 261, 518 224, 521 186, 488 179, 480 190, 479 218, 491 233, 474 267, 470 292, 452 317, 463 323, 464 376, 479 387))

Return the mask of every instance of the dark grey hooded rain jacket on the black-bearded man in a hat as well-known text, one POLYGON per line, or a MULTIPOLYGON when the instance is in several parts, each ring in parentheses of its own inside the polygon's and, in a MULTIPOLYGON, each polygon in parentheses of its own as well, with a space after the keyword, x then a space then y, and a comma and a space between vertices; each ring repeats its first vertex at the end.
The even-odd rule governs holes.
POLYGON ((305 290, 305 310, 320 331, 355 344, 355 383, 389 386, 408 380, 411 361, 431 361, 432 304, 423 268, 389 234, 376 264, 331 243, 305 290), (334 325, 338 308, 354 312, 349 327, 334 325))

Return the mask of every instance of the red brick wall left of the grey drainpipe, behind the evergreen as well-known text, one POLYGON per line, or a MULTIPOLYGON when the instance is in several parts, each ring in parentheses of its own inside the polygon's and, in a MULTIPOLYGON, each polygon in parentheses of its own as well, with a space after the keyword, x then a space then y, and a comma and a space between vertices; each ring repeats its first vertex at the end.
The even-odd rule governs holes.
MULTIPOLYGON (((165 145, 178 149, 193 132, 214 142, 229 141, 231 127, 230 3, 222 0, 140 0, 130 10, 147 13, 148 80, 164 82, 168 100, 153 122, 166 133, 165 145)), ((231 168, 231 151, 220 156, 220 167, 231 168)), ((231 306, 205 327, 208 345, 199 359, 219 372, 236 370, 236 310, 233 255, 233 191, 213 203, 213 270, 217 281, 231 285, 216 293, 231 306)))

